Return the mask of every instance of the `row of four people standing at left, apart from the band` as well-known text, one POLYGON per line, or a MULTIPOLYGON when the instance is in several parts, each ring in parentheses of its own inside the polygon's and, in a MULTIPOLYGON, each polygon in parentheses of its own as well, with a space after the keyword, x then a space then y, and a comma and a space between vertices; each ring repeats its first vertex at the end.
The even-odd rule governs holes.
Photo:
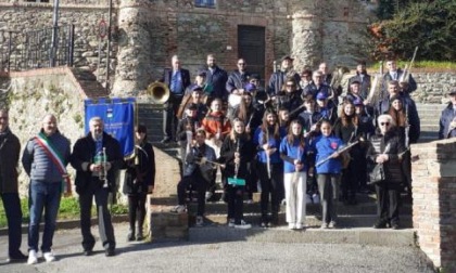
POLYGON ((58 129, 54 115, 42 119, 39 133, 29 139, 22 155, 22 165, 30 179, 28 192, 29 224, 28 256, 20 248, 22 243, 23 212, 18 195, 17 165, 21 143, 9 127, 9 112, 0 109, 0 196, 3 202, 9 231, 9 261, 27 261, 35 264, 39 250, 47 262, 55 260, 52 240, 61 197, 72 188, 67 165, 76 170, 75 188, 79 197, 80 230, 85 256, 92 255, 96 239, 91 233, 91 212, 97 206, 100 239, 105 256, 115 255, 115 237, 109 210, 109 194, 116 188, 117 170, 126 169, 124 193, 128 195, 130 231, 128 239, 143 239, 142 225, 145 217, 145 196, 153 191, 155 164, 152 145, 147 141, 144 126, 137 126, 136 156, 124 160, 119 142, 107 134, 103 120, 92 117, 90 132, 71 142, 58 129), (39 246, 39 230, 43 217, 45 229, 39 246), (135 224, 138 222, 137 229, 135 224))

